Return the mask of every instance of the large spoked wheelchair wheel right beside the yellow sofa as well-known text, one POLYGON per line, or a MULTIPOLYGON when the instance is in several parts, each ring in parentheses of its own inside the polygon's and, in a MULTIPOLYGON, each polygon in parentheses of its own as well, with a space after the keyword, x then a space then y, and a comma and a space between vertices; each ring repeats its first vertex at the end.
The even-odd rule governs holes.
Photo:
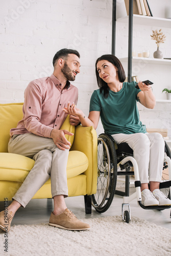
POLYGON ((98 137, 97 192, 92 195, 92 205, 100 213, 110 207, 117 182, 117 157, 114 142, 106 134, 98 137))

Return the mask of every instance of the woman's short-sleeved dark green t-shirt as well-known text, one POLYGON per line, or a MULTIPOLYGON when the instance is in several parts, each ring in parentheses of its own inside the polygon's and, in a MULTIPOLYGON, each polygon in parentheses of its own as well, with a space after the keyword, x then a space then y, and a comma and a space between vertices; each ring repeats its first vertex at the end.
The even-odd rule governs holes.
POLYGON ((104 98, 100 89, 95 90, 90 100, 90 112, 100 111, 100 118, 107 134, 146 133, 146 127, 139 120, 136 82, 123 82, 119 92, 109 90, 108 98, 104 98))

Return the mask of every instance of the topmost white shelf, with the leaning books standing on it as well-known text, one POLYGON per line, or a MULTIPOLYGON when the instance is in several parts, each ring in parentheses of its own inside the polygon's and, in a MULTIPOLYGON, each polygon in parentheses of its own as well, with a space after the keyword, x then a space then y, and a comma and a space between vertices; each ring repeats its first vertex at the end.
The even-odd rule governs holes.
MULTIPOLYGON (((128 21, 129 21, 129 16, 125 16, 117 19, 117 22, 122 22, 122 23, 127 23, 128 21)), ((136 25, 171 28, 171 19, 168 19, 168 18, 157 18, 157 17, 134 14, 133 23, 135 23, 136 25)))

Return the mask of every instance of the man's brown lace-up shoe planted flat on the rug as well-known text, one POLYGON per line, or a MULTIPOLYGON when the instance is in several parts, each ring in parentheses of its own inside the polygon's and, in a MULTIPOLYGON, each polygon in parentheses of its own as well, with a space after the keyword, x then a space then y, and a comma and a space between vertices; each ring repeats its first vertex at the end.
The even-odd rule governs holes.
POLYGON ((51 213, 49 225, 68 230, 84 230, 89 229, 90 225, 79 221, 69 209, 65 209, 60 215, 51 213))

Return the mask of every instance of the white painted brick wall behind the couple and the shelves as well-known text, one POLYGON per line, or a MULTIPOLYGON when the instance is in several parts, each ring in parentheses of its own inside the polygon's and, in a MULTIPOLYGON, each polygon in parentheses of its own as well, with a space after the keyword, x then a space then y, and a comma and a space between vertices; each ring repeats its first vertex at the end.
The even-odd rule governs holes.
MULTIPOLYGON (((118 4, 123 1, 118 0, 118 4)), ((154 16, 164 17, 165 8, 170 6, 170 0, 148 2, 154 16)), ((81 73, 73 82, 79 89, 78 107, 88 115, 91 94, 97 89, 95 60, 111 53, 112 0, 1 0, 0 17, 0 103, 24 101, 29 81, 52 74, 56 51, 73 48, 81 55, 81 73)), ((148 38, 151 28, 141 31, 134 25, 134 31, 135 47, 147 46, 153 53, 155 42, 148 38)), ((168 41, 162 50, 171 56, 170 30, 164 32, 168 41)), ((120 57, 127 54, 126 25, 117 25, 116 34, 116 55, 120 57)), ((169 108, 170 104, 164 106, 166 112, 169 108)), ((141 113, 141 120, 151 127, 155 125, 152 120, 161 118, 160 111, 156 117, 151 112, 145 116, 141 113)), ((171 127, 170 116, 166 116, 169 121, 165 123, 171 127)), ((97 130, 100 132, 101 126, 97 130)))

